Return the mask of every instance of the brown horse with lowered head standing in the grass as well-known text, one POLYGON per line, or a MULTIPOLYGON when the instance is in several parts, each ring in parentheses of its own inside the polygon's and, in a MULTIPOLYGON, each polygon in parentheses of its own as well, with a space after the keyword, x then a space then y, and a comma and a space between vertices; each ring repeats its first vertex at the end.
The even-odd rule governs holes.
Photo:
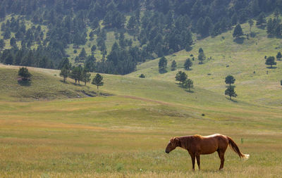
POLYGON ((224 153, 228 145, 233 148, 233 151, 235 151, 240 158, 249 158, 250 155, 245 155, 240 152, 233 139, 222 134, 174 137, 169 141, 168 146, 166 146, 166 153, 173 151, 177 146, 184 148, 192 158, 192 169, 195 170, 195 158, 197 158, 197 165, 200 170, 200 155, 212 154, 217 151, 221 159, 219 170, 222 170, 224 165, 224 153))

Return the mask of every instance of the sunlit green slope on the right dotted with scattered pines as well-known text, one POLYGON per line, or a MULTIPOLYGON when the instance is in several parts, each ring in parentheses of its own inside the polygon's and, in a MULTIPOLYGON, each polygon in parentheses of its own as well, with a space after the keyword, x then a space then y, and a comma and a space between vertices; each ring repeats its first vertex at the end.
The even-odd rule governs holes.
MULTIPOLYGON (((244 24, 242 27, 243 32, 249 33, 249 25, 244 24)), ((195 86, 223 95, 225 77, 233 75, 239 101, 281 107, 282 61, 276 61, 276 68, 270 69, 265 65, 264 56, 276 56, 282 51, 282 40, 268 38, 266 31, 258 27, 253 27, 252 32, 255 32, 256 36, 244 39, 243 44, 233 42, 232 30, 218 37, 197 41, 192 46, 192 51, 180 51, 166 56, 168 72, 164 74, 159 73, 159 59, 156 59, 137 65, 137 71, 128 76, 138 77, 142 73, 149 79, 175 81, 176 73, 184 70, 184 62, 187 58, 192 58, 192 54, 195 61, 192 61, 191 70, 185 72, 194 81, 195 86), (198 64, 197 60, 201 47, 207 58, 212 57, 212 60, 204 61, 203 65, 198 64), (176 71, 171 71, 173 60, 178 66, 176 71)))

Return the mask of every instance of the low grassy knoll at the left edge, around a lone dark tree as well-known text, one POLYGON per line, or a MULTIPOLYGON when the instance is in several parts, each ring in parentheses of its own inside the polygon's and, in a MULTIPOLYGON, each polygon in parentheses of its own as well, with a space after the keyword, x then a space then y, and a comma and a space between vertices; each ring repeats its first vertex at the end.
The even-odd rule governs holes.
MULTIPOLYGON (((89 86, 77 86, 72 82, 59 80, 58 70, 29 68, 32 73, 30 82, 18 80, 18 66, 0 64, 0 100, 1 101, 35 101, 63 98, 96 96, 97 91, 89 86)), ((89 84, 90 85, 90 84, 89 84)))

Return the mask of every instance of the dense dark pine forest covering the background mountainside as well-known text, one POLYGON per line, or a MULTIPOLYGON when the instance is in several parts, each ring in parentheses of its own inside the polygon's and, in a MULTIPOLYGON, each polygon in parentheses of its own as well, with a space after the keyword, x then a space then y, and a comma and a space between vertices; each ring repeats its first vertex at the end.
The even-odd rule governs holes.
POLYGON ((62 68, 69 45, 80 48, 96 40, 91 51, 102 53, 102 59, 82 49, 73 65, 125 75, 137 63, 189 51, 192 34, 197 39, 215 37, 250 19, 281 37, 281 22, 265 20, 269 13, 281 14, 281 9, 282 0, 1 0, 0 62, 62 68), (111 49, 105 43, 109 32, 116 39, 111 49))

